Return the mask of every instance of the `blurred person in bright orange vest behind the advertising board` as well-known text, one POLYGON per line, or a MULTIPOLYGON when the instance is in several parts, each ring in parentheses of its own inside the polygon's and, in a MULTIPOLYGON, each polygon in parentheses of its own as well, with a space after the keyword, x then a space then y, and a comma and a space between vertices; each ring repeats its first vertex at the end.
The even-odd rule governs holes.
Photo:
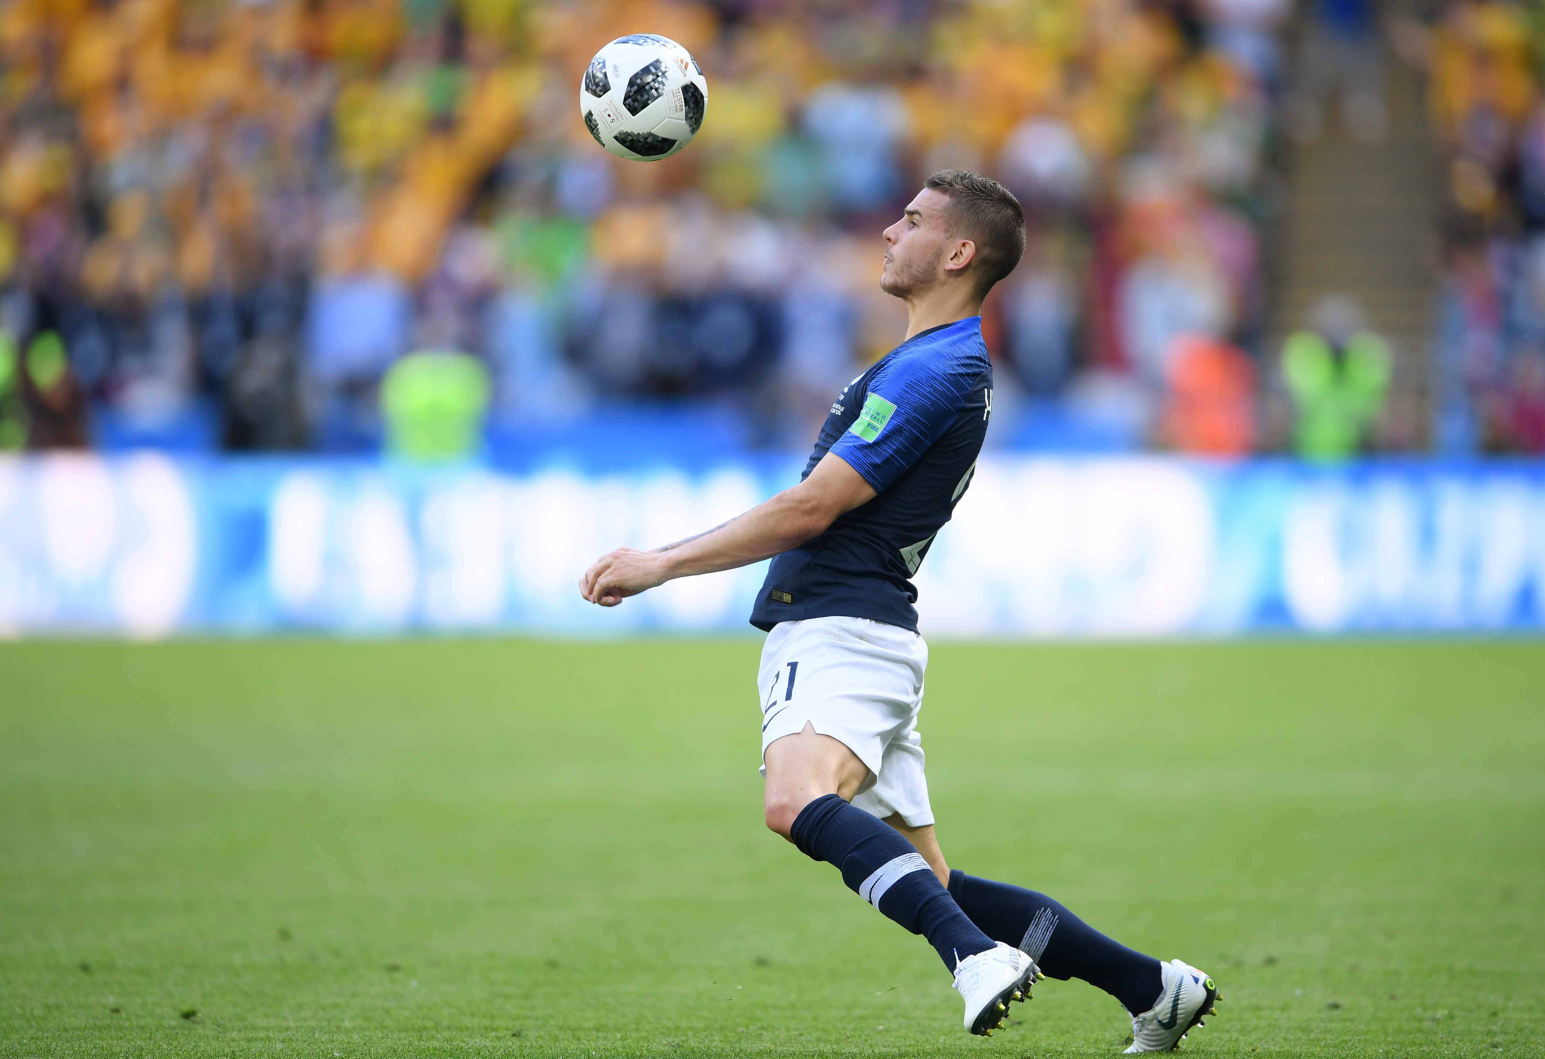
POLYGON ((1255 447, 1255 365, 1214 339, 1182 335, 1170 354, 1163 436, 1182 453, 1248 456, 1255 447))

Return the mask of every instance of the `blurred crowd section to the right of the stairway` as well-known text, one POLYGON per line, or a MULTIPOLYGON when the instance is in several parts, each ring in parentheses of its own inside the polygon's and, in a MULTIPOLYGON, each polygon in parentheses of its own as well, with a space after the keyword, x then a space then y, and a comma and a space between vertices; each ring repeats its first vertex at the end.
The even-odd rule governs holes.
POLYGON ((1452 3, 1401 29, 1445 162, 1432 445, 1545 453, 1545 5, 1452 3))

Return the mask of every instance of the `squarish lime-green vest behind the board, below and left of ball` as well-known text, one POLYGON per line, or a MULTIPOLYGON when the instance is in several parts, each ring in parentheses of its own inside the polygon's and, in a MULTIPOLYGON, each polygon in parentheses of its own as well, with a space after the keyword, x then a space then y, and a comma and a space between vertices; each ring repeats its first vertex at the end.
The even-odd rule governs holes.
POLYGON ((414 461, 477 451, 488 411, 488 373, 465 352, 411 352, 382 380, 386 450, 414 461))

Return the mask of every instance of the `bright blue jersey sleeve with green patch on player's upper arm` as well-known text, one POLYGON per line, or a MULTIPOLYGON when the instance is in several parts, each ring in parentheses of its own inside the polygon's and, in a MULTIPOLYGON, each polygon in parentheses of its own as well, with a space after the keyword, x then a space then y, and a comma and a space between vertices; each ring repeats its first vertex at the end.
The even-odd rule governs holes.
POLYGON ((864 407, 831 451, 884 493, 929 445, 944 436, 964 407, 970 380, 925 359, 882 365, 870 376, 864 407))

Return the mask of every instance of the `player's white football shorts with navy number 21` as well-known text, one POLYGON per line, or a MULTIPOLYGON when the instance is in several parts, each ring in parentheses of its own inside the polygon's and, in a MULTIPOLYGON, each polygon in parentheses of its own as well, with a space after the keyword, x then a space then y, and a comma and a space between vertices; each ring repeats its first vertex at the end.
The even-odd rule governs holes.
POLYGON ((922 671, 929 645, 916 632, 868 618, 779 621, 762 646, 762 775, 768 747, 803 731, 840 741, 870 775, 853 804, 912 827, 933 822, 922 775, 922 671))

